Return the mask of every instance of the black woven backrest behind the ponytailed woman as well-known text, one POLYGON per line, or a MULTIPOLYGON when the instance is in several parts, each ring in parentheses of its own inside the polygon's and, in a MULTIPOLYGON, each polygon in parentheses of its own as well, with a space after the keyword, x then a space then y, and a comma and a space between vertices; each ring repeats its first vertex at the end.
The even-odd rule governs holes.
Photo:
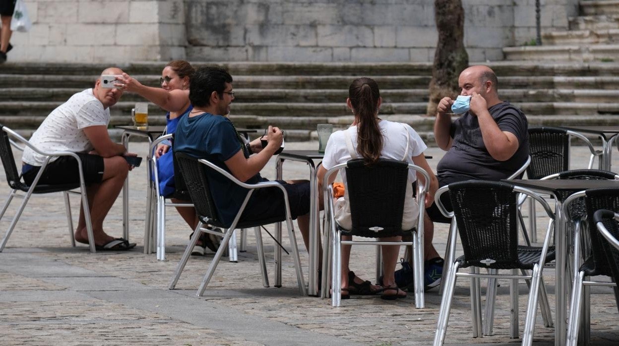
POLYGON ((346 167, 350 233, 372 238, 403 235, 402 214, 409 165, 381 158, 366 165, 349 160, 346 167))

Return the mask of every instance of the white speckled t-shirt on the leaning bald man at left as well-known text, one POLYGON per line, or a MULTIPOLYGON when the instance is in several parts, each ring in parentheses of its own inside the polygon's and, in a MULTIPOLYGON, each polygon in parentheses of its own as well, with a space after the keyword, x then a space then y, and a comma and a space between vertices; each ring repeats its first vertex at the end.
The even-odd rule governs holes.
MULTIPOLYGON (((108 123, 110 109, 103 109, 103 104, 95 97, 93 90, 86 89, 51 111, 29 142, 43 152, 89 152, 94 148, 84 134, 84 129, 97 125, 108 126, 108 123)), ((28 165, 41 166, 45 157, 27 147, 22 161, 28 165)))

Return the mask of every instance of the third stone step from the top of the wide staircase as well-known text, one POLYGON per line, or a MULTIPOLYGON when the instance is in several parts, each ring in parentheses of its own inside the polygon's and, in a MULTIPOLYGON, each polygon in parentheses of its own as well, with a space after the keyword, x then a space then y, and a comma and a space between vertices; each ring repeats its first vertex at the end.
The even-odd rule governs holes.
MULTIPOLYGON (((573 80, 573 79, 572 79, 573 80)), ((0 101, 64 102, 79 92, 76 88, 0 88, 0 101)), ((236 103, 247 102, 344 102, 344 89, 236 89, 236 103)), ((501 98, 511 102, 616 102, 619 90, 600 89, 501 89, 501 98)), ((382 89, 383 102, 427 102, 427 89, 382 89)), ((123 102, 144 102, 135 93, 126 93, 123 102)), ((157 109, 157 108, 155 108, 157 109)))

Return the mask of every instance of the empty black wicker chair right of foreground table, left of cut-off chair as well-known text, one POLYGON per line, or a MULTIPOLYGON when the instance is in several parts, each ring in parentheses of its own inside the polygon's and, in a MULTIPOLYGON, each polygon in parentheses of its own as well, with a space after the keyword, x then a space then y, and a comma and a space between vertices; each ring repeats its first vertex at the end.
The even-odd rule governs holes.
MULTIPOLYGON (((568 201, 574 198, 582 198, 581 194, 574 194, 568 201)), ((608 286, 608 282, 591 281, 586 278, 597 275, 612 277, 608 259, 605 256, 602 246, 603 239, 597 232, 594 222, 594 213, 600 209, 619 212, 619 188, 600 188, 588 189, 584 192, 584 205, 587 214, 587 225, 589 228, 589 238, 591 248, 586 260, 580 266, 578 273, 574 277, 572 298, 569 309, 568 344, 574 344, 581 339, 582 343, 589 344, 590 334, 590 307, 589 307, 589 287, 592 285, 608 286), (600 251, 602 250, 602 251, 600 251), (583 306, 584 305, 584 306, 583 306)), ((569 207, 567 205, 566 207, 569 207)), ((617 286, 612 284, 615 295, 619 294, 617 286)))

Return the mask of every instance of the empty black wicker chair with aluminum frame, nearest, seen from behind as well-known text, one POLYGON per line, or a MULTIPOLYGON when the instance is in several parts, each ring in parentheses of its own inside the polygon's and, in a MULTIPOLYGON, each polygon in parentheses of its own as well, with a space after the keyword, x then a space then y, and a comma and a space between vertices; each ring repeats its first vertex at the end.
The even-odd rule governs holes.
MULTIPOLYGON (((549 227, 542 247, 521 246, 518 244, 517 194, 525 193, 542 204, 550 218, 554 214, 548 204, 528 189, 508 183, 494 181, 462 181, 440 188, 435 200, 441 212, 456 220, 464 255, 449 266, 445 292, 441 300, 434 345, 442 345, 449 321, 449 311, 454 295, 457 277, 471 278, 471 308, 473 313, 473 337, 482 334, 481 298, 479 278, 495 277, 511 279, 511 329, 510 337, 518 337, 517 327, 517 280, 531 280, 529 301, 527 303, 524 337, 522 344, 531 345, 537 313, 538 293, 543 290, 542 268, 554 259, 554 251, 549 251, 552 227, 549 227), (453 212, 448 212, 440 201, 440 196, 448 192, 451 196, 453 212), (480 202, 485 201, 485 202, 480 202), (471 272, 458 272, 460 268, 470 267, 471 272), (488 274, 480 274, 479 269, 490 269, 488 274), (498 274, 498 270, 509 269, 512 274, 498 274), (532 270, 530 275, 517 275, 518 270, 532 270)), ((451 258, 455 257, 456 232, 451 231, 451 258)))

